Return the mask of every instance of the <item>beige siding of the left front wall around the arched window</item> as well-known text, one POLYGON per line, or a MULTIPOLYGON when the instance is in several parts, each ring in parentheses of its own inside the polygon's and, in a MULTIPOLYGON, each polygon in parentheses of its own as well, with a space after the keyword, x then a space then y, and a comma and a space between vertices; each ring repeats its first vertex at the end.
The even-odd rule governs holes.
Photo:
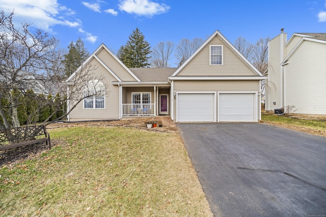
POLYGON ((70 121, 119 119, 119 86, 111 85, 112 81, 117 80, 96 59, 93 59, 90 64, 97 67, 92 72, 94 77, 103 76, 102 82, 106 92, 105 109, 84 109, 84 102, 82 101, 70 113, 70 121))

